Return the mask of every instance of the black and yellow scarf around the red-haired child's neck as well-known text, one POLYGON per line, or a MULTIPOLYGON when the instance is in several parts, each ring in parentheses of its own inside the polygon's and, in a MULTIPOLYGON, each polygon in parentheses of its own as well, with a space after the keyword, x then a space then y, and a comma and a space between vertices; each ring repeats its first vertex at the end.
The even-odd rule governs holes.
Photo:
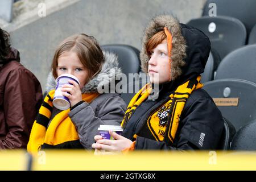
MULTIPOLYGON (((147 118, 147 127, 150 130, 151 135, 154 136, 156 141, 164 141, 168 144, 174 143, 177 128, 179 126, 179 119, 181 112, 184 108, 185 102, 187 101, 193 90, 200 89, 203 84, 200 83, 201 76, 192 78, 184 84, 177 87, 175 92, 170 94, 170 100, 163 103, 158 109, 155 109, 147 118), (168 120, 166 125, 159 125, 159 110, 168 110, 168 120)), ((135 96, 131 99, 125 117, 121 123, 123 128, 126 127, 129 118, 137 109, 137 107, 148 98, 151 93, 151 84, 145 85, 135 96)), ((135 134, 133 137, 136 138, 139 134, 135 134)), ((143 136, 144 137, 144 136, 143 136)))

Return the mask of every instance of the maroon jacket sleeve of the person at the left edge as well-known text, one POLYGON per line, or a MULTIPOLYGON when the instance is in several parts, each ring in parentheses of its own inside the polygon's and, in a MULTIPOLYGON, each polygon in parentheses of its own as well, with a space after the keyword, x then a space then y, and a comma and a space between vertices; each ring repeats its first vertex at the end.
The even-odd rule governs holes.
POLYGON ((34 75, 26 69, 15 69, 6 79, 3 104, 9 131, 6 137, 0 140, 0 149, 27 146, 38 99, 42 100, 41 86, 34 79, 34 75))

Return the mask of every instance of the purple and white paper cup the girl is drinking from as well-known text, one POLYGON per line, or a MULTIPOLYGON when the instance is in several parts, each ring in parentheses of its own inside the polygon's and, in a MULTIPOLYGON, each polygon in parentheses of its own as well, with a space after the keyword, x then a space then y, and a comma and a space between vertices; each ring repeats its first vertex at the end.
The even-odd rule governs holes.
POLYGON ((73 75, 63 74, 56 78, 56 88, 55 88, 55 94, 54 94, 52 103, 53 103, 53 106, 55 106, 57 109, 67 110, 71 106, 68 97, 63 96, 63 94, 61 93, 62 85, 70 84, 68 82, 69 80, 76 81, 77 84, 80 85, 78 78, 73 75))

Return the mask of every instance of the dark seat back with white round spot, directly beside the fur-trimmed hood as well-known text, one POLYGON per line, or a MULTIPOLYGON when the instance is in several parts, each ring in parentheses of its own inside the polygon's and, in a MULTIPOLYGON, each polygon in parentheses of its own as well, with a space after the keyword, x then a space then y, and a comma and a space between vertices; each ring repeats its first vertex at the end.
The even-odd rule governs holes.
POLYGON ((246 43, 245 26, 236 18, 203 16, 192 19, 187 24, 198 28, 209 37, 212 48, 219 53, 221 59, 246 43))

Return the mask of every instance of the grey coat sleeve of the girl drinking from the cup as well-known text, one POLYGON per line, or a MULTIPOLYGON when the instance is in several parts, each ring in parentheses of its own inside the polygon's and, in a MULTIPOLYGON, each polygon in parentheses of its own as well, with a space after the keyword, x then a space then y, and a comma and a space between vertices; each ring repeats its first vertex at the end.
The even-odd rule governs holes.
POLYGON ((126 104, 120 96, 108 97, 93 109, 87 102, 76 106, 69 117, 77 128, 82 146, 92 149, 100 125, 121 125, 126 104))

